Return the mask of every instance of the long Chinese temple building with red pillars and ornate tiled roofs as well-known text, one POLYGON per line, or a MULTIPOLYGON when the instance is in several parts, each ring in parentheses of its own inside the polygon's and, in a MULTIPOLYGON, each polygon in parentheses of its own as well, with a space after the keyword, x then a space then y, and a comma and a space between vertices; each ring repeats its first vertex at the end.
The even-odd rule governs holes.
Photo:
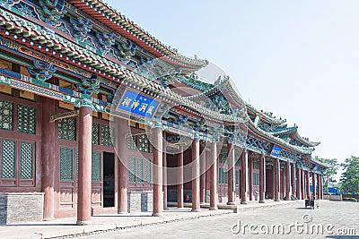
POLYGON ((1 0, 0 13, 0 225, 301 200, 310 184, 322 199, 319 142, 228 76, 198 77, 206 60, 102 0, 1 0))

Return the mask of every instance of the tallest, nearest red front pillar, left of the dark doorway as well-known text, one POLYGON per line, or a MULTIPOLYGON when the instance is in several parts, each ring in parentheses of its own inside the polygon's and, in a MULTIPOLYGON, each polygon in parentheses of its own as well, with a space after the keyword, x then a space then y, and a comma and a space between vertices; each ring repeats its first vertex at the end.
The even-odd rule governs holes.
POLYGON ((92 108, 79 109, 77 225, 91 224, 92 108))

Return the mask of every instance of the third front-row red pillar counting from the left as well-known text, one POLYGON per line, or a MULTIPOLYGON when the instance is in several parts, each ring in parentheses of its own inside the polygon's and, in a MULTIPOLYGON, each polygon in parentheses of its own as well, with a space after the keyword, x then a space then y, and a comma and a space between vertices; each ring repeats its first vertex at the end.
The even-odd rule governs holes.
POLYGON ((192 211, 199 208, 199 140, 192 141, 192 211))

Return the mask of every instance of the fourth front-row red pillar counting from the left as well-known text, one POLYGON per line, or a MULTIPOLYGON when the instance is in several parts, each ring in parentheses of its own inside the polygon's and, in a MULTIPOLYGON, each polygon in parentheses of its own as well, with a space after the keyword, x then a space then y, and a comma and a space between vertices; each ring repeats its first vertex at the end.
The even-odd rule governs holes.
POLYGON ((217 144, 216 142, 211 142, 211 150, 208 152, 211 154, 211 192, 210 192, 210 202, 209 209, 216 210, 217 209, 217 144))

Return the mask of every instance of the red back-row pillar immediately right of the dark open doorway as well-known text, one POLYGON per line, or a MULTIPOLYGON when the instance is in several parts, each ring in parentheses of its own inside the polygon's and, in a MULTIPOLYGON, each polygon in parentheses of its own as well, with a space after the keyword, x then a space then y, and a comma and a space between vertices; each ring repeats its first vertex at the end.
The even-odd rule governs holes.
POLYGON ((127 213, 127 188, 128 188, 128 144, 126 133, 128 122, 125 119, 115 118, 115 144, 116 158, 118 159, 118 213, 127 213), (124 142, 125 141, 125 142, 124 142))

